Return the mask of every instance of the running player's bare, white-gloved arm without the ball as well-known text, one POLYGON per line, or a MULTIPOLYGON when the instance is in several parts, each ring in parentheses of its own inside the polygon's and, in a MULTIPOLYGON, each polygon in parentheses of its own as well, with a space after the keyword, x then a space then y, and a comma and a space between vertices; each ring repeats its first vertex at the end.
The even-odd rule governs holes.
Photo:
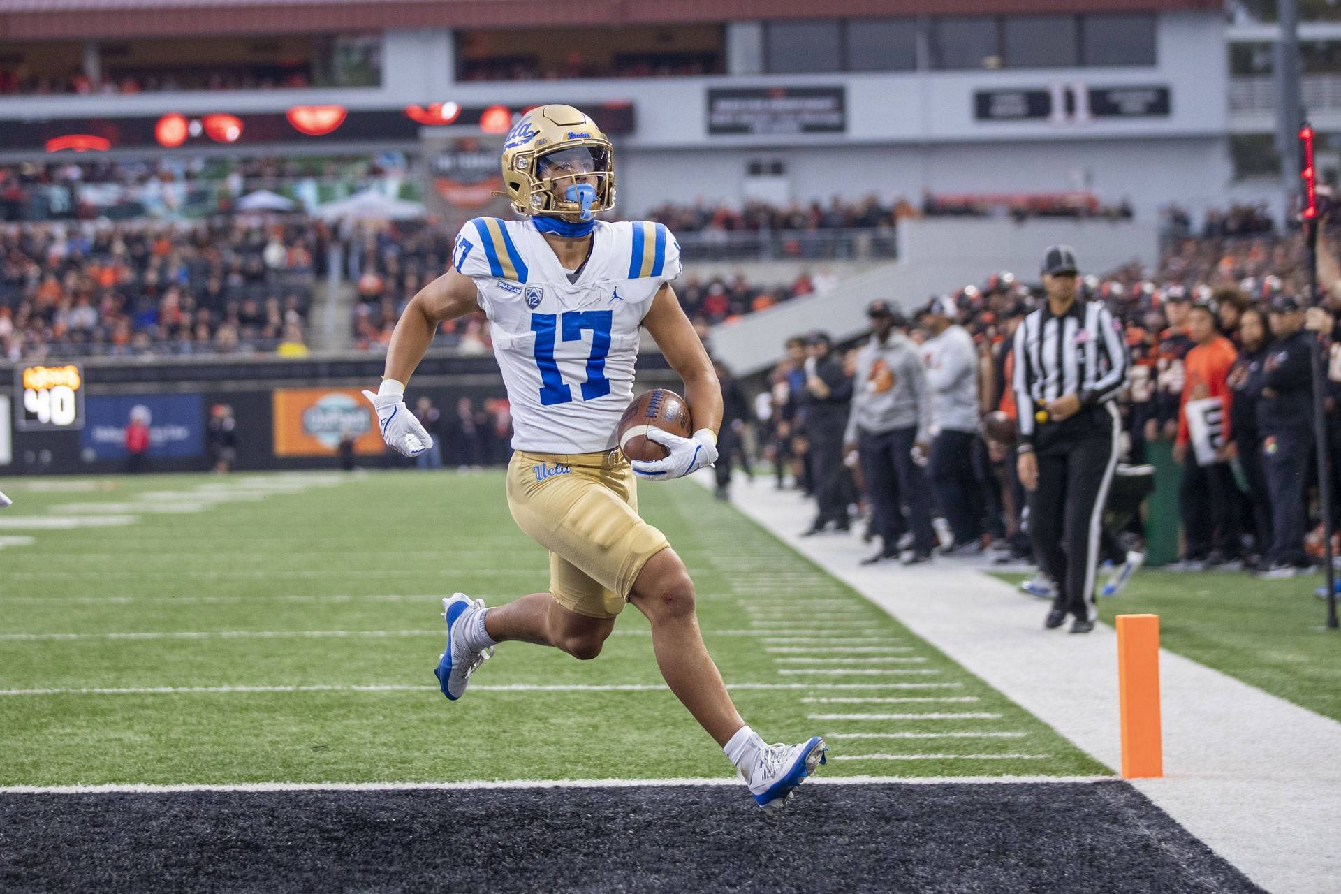
POLYGON ((404 456, 418 456, 433 446, 433 438, 409 407, 405 406, 405 383, 424 359, 433 334, 443 320, 464 316, 479 310, 479 290, 475 280, 456 271, 418 291, 392 331, 386 347, 386 366, 377 394, 363 391, 377 410, 378 426, 386 446, 404 456))

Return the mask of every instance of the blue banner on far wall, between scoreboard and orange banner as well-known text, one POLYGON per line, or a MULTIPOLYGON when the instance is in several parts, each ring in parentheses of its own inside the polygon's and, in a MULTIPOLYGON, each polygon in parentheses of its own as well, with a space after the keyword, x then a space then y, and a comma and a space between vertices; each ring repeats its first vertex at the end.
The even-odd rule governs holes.
POLYGON ((205 401, 200 394, 94 394, 84 399, 83 457, 126 457, 131 414, 149 425, 150 457, 194 457, 205 452, 205 401))

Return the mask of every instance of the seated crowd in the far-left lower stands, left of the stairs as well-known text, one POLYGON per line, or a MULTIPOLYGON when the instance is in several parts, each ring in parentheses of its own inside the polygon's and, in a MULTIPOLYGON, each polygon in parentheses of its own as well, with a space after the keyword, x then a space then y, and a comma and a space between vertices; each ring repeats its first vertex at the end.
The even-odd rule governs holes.
POLYGON ((0 355, 306 354, 320 224, 0 225, 0 355))

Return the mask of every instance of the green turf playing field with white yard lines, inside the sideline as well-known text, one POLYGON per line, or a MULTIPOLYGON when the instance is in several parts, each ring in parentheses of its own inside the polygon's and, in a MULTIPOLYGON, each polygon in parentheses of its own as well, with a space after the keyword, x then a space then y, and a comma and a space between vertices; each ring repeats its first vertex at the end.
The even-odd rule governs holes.
MULTIPOLYGON (((443 595, 496 604, 547 584, 502 473, 4 489, 0 784, 731 772, 664 689, 632 607, 595 661, 504 643, 460 702, 437 692, 443 595), (101 516, 134 520, 40 527, 101 516)), ((707 491, 648 485, 641 499, 770 741, 827 736, 827 775, 1110 772, 707 491)))

